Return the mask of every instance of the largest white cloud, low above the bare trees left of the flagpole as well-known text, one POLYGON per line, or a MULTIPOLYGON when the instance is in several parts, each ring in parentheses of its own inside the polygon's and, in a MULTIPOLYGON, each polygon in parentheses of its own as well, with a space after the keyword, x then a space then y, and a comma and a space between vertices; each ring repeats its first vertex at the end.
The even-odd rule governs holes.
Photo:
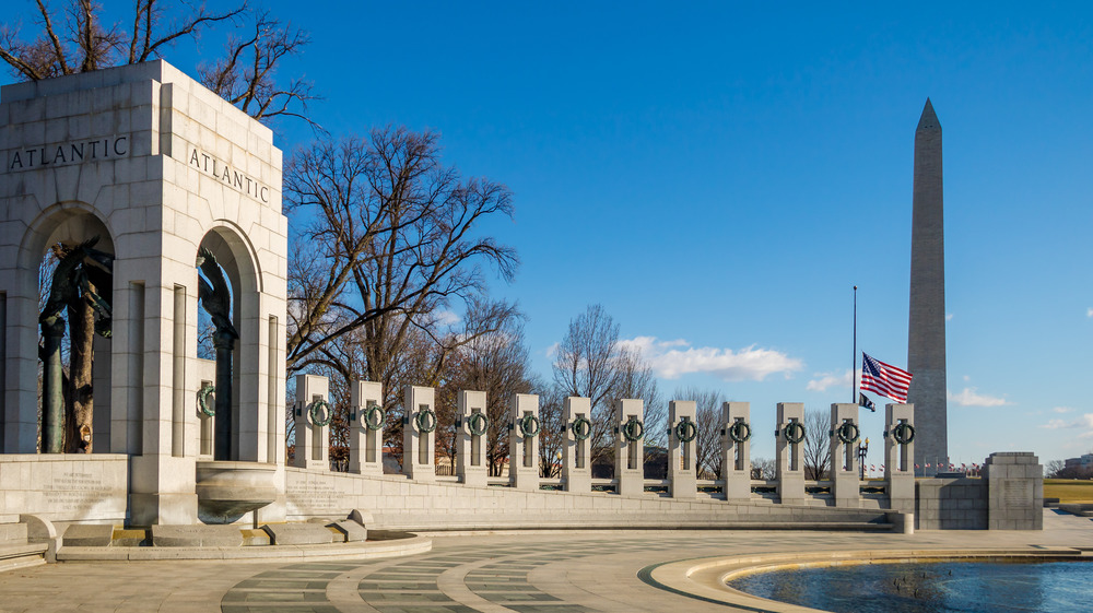
POLYGON ((740 350, 693 347, 677 339, 658 341, 656 337, 637 337, 619 341, 625 350, 638 351, 658 376, 674 379, 692 373, 707 373, 727 381, 762 381, 769 375, 790 374, 804 367, 796 357, 769 349, 750 345, 740 350))

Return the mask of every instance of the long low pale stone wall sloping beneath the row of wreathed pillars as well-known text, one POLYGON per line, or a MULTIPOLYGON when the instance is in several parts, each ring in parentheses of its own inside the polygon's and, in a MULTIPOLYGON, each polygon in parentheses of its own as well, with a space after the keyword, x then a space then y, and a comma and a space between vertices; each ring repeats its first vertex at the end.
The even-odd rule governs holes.
MULTIPOLYGON (((654 493, 520 491, 455 482, 422 483, 401 475, 368 476, 286 469, 287 519, 344 517, 368 511, 376 528, 470 530, 504 528, 776 528, 800 523, 886 523, 880 509, 842 509, 731 502, 678 500, 654 493), (747 524, 747 526, 744 526, 747 524)), ((369 526, 372 528, 373 526, 369 526)))

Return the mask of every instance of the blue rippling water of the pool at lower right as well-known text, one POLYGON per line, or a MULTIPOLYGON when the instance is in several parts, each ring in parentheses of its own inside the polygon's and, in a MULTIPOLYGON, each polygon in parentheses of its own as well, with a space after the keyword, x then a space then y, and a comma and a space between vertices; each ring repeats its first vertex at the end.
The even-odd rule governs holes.
POLYGON ((1089 562, 861 564, 749 575, 750 594, 837 613, 1089 613, 1089 562))

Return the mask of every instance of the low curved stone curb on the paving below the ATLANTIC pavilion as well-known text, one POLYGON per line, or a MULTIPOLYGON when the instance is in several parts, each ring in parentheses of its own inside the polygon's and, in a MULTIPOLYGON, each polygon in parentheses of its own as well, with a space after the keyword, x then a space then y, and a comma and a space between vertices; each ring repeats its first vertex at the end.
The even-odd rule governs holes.
POLYGON ((154 559, 270 559, 304 561, 375 559, 426 553, 433 539, 408 539, 336 543, 330 545, 270 545, 250 547, 67 547, 57 551, 58 562, 154 561, 154 559))

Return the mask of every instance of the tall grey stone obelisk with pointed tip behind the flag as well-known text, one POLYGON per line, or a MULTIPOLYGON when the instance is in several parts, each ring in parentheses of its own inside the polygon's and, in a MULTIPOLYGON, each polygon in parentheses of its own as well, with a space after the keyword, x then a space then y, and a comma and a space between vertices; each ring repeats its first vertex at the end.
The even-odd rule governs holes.
POLYGON ((910 325, 907 402, 915 405, 915 463, 949 462, 945 401, 945 241, 941 179, 941 122, 933 105, 915 130, 914 217, 910 234, 910 325))

